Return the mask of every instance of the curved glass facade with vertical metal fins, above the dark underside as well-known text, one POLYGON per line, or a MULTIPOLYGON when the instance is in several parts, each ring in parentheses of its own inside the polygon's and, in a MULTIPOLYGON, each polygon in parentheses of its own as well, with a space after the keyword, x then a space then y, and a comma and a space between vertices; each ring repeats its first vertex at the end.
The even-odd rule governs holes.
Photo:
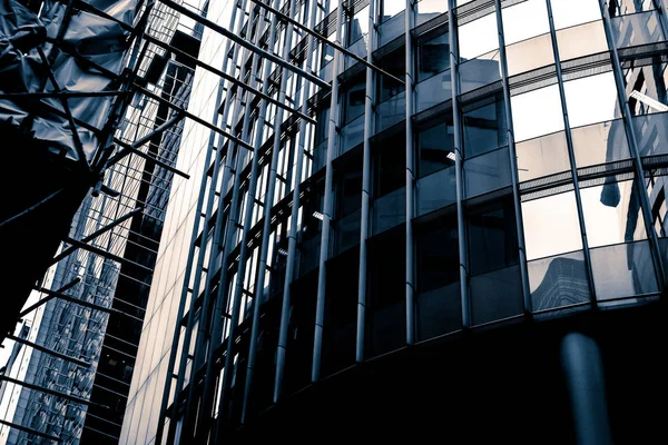
POLYGON ((250 147, 186 126, 121 443, 222 441, 406 346, 658 298, 664 3, 275 2, 317 38, 254 4, 208 17, 291 66, 208 28, 200 58, 293 111, 196 71, 190 109, 250 147))

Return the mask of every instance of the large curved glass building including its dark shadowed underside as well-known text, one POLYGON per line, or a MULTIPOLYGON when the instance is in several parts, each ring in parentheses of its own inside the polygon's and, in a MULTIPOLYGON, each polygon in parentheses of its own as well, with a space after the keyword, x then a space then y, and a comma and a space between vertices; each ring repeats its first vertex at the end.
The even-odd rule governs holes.
POLYGON ((184 128, 121 444, 665 437, 665 1, 163 3, 204 26, 214 128, 184 128))

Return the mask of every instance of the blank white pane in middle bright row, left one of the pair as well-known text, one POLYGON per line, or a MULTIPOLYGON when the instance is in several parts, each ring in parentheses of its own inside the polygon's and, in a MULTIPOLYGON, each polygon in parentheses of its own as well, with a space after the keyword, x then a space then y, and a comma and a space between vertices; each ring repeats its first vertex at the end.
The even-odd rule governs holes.
POLYGON ((559 87, 513 96, 510 99, 515 141, 531 139, 563 129, 559 87))

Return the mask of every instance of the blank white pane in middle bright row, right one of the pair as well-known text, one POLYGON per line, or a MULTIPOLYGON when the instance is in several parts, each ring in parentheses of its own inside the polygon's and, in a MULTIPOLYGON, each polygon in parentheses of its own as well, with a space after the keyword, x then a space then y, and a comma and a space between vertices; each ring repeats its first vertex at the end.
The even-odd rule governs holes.
POLYGON ((563 82, 571 127, 621 117, 612 72, 563 82))

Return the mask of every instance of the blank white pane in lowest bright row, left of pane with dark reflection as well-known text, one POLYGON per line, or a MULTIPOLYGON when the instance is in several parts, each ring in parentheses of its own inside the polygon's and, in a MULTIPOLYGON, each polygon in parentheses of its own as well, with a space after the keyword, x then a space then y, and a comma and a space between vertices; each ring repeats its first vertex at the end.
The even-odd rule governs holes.
POLYGON ((573 191, 522 202, 527 259, 580 250, 580 224, 573 191))

